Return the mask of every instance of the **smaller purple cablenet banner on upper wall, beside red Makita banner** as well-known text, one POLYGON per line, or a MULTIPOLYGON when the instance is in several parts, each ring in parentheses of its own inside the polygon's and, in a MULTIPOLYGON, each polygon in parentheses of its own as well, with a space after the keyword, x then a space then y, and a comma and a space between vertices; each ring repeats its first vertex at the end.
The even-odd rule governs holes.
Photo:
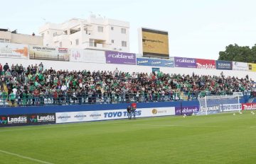
POLYGON ((174 57, 175 67, 196 68, 196 59, 186 57, 174 57))

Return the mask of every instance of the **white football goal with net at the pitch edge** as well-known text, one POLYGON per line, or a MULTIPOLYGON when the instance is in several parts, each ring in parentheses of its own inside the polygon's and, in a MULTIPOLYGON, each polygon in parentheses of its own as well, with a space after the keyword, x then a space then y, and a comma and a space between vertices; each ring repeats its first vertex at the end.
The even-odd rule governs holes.
POLYGON ((239 95, 206 95, 198 101, 201 115, 242 110, 239 95))

